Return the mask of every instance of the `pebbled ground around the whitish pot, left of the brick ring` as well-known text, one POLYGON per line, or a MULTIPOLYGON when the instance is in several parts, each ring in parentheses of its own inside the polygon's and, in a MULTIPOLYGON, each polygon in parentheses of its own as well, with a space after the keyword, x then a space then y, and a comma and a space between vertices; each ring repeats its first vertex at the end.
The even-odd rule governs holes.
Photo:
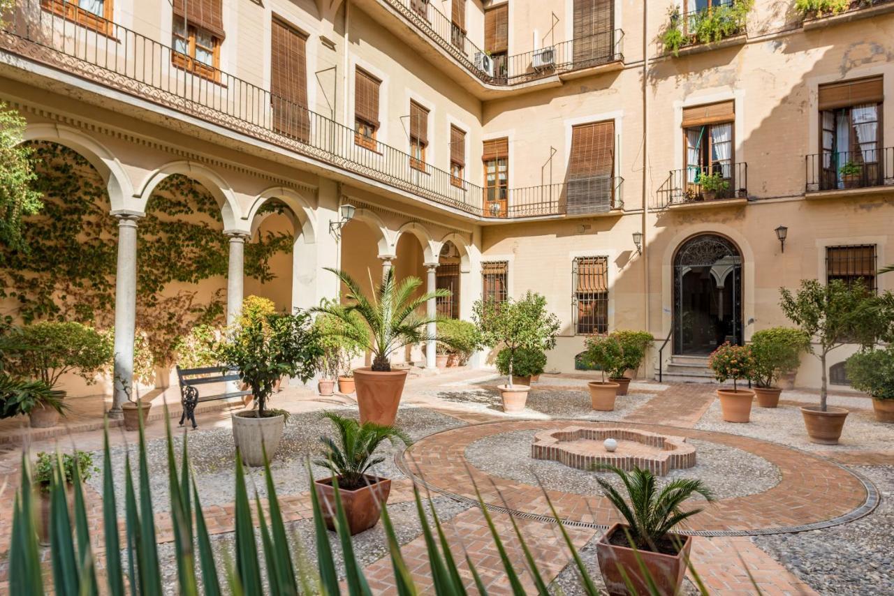
MULTIPOLYGON (((334 408, 333 408, 334 409, 334 408)), ((357 416, 356 409, 335 410, 344 416, 357 416)), ((397 425, 409 432, 413 440, 421 439, 433 432, 443 431, 460 426, 462 423, 451 416, 444 416, 432 410, 422 407, 402 407, 398 412, 397 425)), ((280 443, 276 456, 271 462, 274 474, 274 485, 277 494, 288 495, 308 491, 309 477, 306 466, 308 455, 316 456, 320 449, 319 438, 321 435, 332 431, 332 425, 327 421, 321 421, 316 413, 304 413, 291 415, 288 424, 283 431, 283 441, 280 443)), ((180 465, 182 435, 174 438, 174 454, 180 465)), ((235 500, 234 462, 236 457, 232 442, 232 430, 219 428, 209 431, 189 433, 190 466, 196 475, 198 494, 203 505, 227 504, 235 500)), ((152 491, 152 500, 156 513, 170 509, 168 499, 168 471, 167 471, 167 443, 164 439, 148 441, 147 458, 149 466, 149 488, 152 491)), ((384 456, 382 464, 375 467, 375 474, 388 478, 400 478, 400 470, 394 465, 393 455, 396 447, 387 441, 376 451, 384 456)), ((124 487, 124 447, 112 449, 113 473, 115 479, 115 492, 119 503, 123 502, 124 487)), ((97 466, 103 466, 103 453, 97 451, 94 454, 97 466)), ((135 482, 139 483, 137 474, 136 452, 131 449, 131 469, 135 482)), ((325 477, 328 471, 320 466, 313 466, 315 477, 325 477)), ((102 474, 94 474, 89 483, 97 491, 102 492, 102 474)), ((249 496, 257 493, 266 497, 266 484, 263 468, 247 470, 246 483, 249 488, 249 496)))

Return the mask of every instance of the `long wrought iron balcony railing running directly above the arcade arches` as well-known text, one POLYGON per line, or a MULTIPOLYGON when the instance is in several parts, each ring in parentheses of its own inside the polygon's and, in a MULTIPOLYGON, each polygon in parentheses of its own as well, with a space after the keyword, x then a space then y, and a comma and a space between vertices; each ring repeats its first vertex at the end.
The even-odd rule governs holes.
MULTIPOLYGON (((21 0, 0 29, 0 50, 284 147, 392 189, 477 217, 494 216, 485 206, 485 189, 481 186, 457 180, 431 164, 419 164, 408 153, 384 143, 360 143, 355 130, 305 105, 275 96, 225 71, 204 65, 194 68, 198 66, 195 61, 184 59, 170 46, 100 17, 84 21, 75 8, 64 0, 21 0), (46 1, 52 2, 51 8, 59 5, 62 10, 41 8, 46 1)), ((563 198, 567 194, 563 187, 504 191, 508 202, 495 216, 535 217, 603 209, 601 201, 569 206, 563 198), (566 211, 569 208, 572 210, 566 211)))

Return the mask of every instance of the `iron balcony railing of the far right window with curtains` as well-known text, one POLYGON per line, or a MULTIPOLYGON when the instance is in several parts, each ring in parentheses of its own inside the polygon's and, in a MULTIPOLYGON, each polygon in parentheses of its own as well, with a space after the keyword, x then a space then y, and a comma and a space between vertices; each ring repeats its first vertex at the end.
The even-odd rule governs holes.
POLYGON ((894 185, 894 147, 807 155, 807 192, 894 185))

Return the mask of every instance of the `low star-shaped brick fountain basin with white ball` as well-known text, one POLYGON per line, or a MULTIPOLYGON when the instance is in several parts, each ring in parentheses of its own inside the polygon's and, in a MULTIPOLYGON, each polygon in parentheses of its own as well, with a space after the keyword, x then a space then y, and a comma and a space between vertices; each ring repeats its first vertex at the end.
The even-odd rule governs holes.
POLYGON ((663 476, 674 469, 695 466, 696 448, 686 442, 686 437, 629 428, 569 426, 536 433, 531 457, 552 459, 580 470, 608 464, 622 470, 639 467, 663 476), (618 449, 613 452, 603 446, 603 441, 610 438, 618 441, 618 449))

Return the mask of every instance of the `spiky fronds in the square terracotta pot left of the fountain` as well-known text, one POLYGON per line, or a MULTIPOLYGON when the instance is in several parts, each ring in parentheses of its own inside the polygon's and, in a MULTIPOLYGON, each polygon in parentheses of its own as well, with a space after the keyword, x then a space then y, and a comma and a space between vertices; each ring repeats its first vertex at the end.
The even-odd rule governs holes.
POLYGON ((345 491, 356 491, 365 486, 367 481, 364 476, 369 468, 384 462, 383 456, 373 457, 382 441, 391 441, 393 445, 401 441, 408 446, 413 442, 406 432, 395 426, 371 422, 360 424, 354 418, 334 412, 322 412, 320 418, 333 424, 338 441, 328 436, 320 437, 325 449, 314 463, 331 470, 345 491))

